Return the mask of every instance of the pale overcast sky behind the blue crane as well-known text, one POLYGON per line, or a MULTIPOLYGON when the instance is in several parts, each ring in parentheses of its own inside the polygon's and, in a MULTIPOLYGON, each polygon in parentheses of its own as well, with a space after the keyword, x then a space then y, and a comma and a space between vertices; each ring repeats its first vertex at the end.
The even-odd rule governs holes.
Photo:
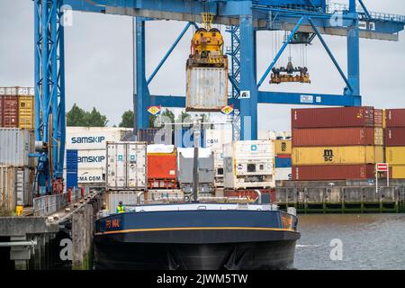
MULTIPOLYGON (((336 1, 338 2, 338 1, 336 1)), ((345 1, 340 1, 345 2, 345 1)), ((365 0, 369 10, 405 14, 403 0, 365 0)), ((77 103, 95 106, 118 124, 123 111, 132 107, 132 20, 127 16, 74 13, 73 26, 66 28, 67 109, 77 103)), ((185 23, 147 24, 147 73, 157 66, 185 23)), ((224 28, 221 28, 224 31, 224 28)), ((185 93, 185 61, 189 55, 190 29, 150 85, 151 94, 185 93)), ((226 33, 228 34, 228 33, 226 33)), ((33 86, 33 4, 31 0, 0 0, 0 86, 33 86)), ((257 38, 257 75, 261 76, 274 56, 272 32, 257 38)), ((347 41, 325 39, 347 71, 347 41)), ((229 46, 229 37, 226 37, 229 46)), ((379 108, 405 107, 405 33, 400 41, 361 40, 361 94, 365 105, 379 108)), ((301 49, 293 48, 294 65, 302 65, 301 49)), ((311 85, 262 85, 263 90, 342 94, 344 82, 319 40, 306 49, 311 85)), ((284 52, 283 62, 290 54, 284 52)), ((302 106, 301 106, 302 107, 302 106)), ((260 104, 259 129, 290 130, 289 105, 260 104)))

